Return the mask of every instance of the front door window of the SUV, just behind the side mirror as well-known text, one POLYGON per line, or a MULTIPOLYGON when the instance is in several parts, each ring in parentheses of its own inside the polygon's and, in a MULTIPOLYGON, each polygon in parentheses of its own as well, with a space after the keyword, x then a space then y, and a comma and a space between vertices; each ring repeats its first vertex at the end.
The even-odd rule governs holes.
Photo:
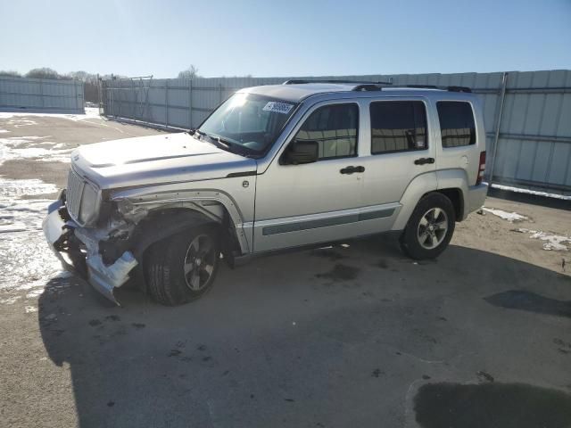
POLYGON ((319 160, 357 155, 357 104, 333 104, 313 111, 294 141, 317 141, 319 160))

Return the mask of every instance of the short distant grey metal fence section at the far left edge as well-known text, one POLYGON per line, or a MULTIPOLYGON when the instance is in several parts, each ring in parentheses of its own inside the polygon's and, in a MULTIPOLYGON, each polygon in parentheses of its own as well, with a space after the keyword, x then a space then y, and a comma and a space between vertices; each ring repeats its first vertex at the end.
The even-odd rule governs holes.
POLYGON ((76 80, 2 76, 0 110, 84 112, 83 83, 76 80))

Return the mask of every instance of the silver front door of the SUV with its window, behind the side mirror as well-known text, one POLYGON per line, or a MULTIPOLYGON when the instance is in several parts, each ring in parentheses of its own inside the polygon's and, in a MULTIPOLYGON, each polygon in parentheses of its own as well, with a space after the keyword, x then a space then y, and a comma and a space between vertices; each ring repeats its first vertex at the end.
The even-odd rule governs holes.
POLYGON ((317 141, 318 161, 286 164, 278 153, 257 177, 253 251, 326 243, 359 235, 362 192, 357 103, 318 104, 294 130, 296 140, 317 141))

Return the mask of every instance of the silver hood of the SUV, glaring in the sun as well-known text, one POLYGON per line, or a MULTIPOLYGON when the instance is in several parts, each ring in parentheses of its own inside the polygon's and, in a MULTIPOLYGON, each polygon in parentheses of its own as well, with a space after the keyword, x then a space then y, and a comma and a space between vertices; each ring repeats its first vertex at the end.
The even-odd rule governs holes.
POLYGON ((186 133, 82 145, 71 152, 71 161, 102 189, 224 178, 257 169, 253 159, 186 133))

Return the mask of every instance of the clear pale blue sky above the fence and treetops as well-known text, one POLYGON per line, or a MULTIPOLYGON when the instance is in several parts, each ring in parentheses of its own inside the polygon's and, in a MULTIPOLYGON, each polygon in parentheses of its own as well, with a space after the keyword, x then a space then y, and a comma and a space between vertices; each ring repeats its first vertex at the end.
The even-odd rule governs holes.
POLYGON ((176 77, 571 69, 571 0, 9 1, 0 70, 176 77))

